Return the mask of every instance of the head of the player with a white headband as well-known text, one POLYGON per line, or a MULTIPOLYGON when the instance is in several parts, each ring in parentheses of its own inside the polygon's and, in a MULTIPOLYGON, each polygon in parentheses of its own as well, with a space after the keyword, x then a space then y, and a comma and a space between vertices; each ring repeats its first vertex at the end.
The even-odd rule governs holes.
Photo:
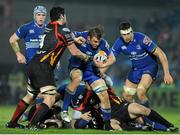
POLYGON ((133 40, 133 29, 129 22, 122 22, 119 26, 119 32, 124 42, 129 43, 133 40))

